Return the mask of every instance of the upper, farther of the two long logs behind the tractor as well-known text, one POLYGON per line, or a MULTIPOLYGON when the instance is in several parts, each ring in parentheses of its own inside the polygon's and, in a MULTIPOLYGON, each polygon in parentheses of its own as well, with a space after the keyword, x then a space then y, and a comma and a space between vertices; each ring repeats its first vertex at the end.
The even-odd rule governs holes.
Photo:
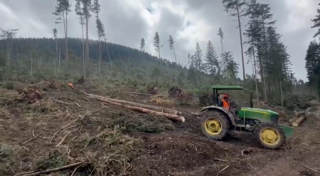
POLYGON ((97 99, 104 99, 107 101, 112 101, 112 102, 117 102, 117 103, 121 103, 121 104, 127 104, 130 106, 135 106, 135 107, 142 107, 145 109, 150 109, 150 110, 156 110, 159 112, 164 112, 164 113, 171 113, 174 115, 179 115, 181 114, 181 112, 178 112, 177 110, 174 109, 167 109, 167 108, 163 108, 163 107, 158 107, 158 106, 153 106, 153 105, 148 105, 148 104, 141 104, 141 103, 137 103, 137 102, 131 102, 131 101, 125 101, 125 100, 121 100, 121 99, 113 99, 113 98, 107 98, 107 97, 103 97, 103 96, 99 96, 99 95, 94 95, 94 94, 88 94, 86 93, 88 96, 93 96, 97 99))

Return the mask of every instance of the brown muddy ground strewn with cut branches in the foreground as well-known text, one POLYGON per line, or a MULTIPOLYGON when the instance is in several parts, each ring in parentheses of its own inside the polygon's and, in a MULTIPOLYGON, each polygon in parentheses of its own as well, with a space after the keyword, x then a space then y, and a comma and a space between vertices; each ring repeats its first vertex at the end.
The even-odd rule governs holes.
MULTIPOLYGON (((147 104, 166 102, 158 105, 183 111, 200 109, 170 104, 174 100, 165 93, 132 95, 124 92, 127 88, 101 85, 77 88, 147 104)), ((251 133, 232 131, 226 141, 210 140, 198 123, 192 116, 172 122, 101 103, 65 83, 11 82, 0 89, 0 175, 319 174, 318 119, 308 118, 296 127, 278 150, 261 148, 251 133)))

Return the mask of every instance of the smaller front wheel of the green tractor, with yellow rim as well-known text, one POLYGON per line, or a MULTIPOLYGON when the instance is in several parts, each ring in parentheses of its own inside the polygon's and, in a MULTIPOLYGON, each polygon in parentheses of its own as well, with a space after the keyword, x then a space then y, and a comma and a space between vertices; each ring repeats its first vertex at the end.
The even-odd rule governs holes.
POLYGON ((252 132, 265 148, 278 149, 285 143, 284 131, 273 123, 258 123, 252 132))

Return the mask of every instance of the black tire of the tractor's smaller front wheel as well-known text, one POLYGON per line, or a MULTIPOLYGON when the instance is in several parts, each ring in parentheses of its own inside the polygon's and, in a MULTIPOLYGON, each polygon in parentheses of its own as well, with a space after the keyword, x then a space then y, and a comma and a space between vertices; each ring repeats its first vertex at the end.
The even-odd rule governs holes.
POLYGON ((285 143, 285 134, 284 131, 277 125, 273 123, 258 123, 253 131, 253 136, 256 140, 259 141, 259 143, 264 147, 268 149, 278 149, 285 143), (275 139, 274 143, 267 142, 263 140, 262 138, 262 131, 264 129, 273 129, 274 132, 277 135, 277 138, 275 139))

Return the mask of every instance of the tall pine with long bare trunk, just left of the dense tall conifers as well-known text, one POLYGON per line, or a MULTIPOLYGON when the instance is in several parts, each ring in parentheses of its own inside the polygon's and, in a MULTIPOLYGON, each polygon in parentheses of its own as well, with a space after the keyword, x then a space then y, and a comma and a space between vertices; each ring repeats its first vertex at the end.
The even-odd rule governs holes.
POLYGON ((245 15, 245 8, 243 6, 246 4, 247 0, 222 0, 225 11, 229 13, 230 16, 236 16, 238 21, 239 36, 240 36, 240 46, 241 46, 241 59, 242 59, 242 74, 243 80, 245 80, 245 69, 244 69, 244 57, 243 57, 243 45, 242 45, 242 31, 241 31, 241 16, 245 15))

